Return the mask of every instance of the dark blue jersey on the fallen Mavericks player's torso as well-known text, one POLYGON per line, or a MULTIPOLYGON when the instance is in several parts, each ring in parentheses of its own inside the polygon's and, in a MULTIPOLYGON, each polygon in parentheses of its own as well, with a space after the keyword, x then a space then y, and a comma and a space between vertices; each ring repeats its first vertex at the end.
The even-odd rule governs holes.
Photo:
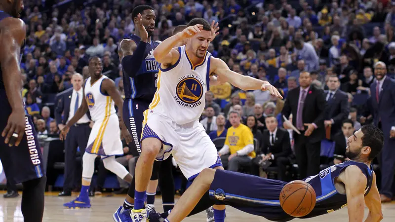
POLYGON ((355 161, 347 161, 344 163, 330 166, 321 170, 318 175, 304 179, 305 182, 313 186, 316 191, 316 207, 313 211, 303 218, 312 218, 318 215, 331 213, 335 210, 347 206, 346 193, 339 193, 335 189, 335 179, 340 175, 346 167, 356 165, 367 178, 365 195, 368 194, 372 187, 373 167, 370 168, 364 164, 355 161))

